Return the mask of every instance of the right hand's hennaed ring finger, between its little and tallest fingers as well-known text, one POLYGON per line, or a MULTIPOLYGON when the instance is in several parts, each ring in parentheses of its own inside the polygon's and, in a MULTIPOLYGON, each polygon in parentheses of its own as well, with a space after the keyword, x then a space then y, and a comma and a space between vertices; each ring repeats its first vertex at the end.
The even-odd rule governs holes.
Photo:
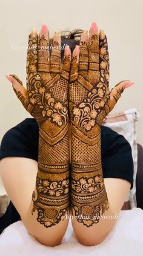
POLYGON ((85 30, 81 35, 81 41, 79 44, 79 70, 88 71, 88 34, 85 30))

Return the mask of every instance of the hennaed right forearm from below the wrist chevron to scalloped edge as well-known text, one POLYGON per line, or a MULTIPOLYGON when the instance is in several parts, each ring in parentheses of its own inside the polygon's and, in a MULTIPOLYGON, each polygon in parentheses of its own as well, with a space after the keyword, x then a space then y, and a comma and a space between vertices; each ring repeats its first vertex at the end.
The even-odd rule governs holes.
POLYGON ((72 134, 71 208, 79 222, 92 226, 108 208, 102 175, 101 134, 92 144, 72 134), (82 217, 87 216, 87 220, 82 217), (95 218, 97 216, 97 218, 95 218))

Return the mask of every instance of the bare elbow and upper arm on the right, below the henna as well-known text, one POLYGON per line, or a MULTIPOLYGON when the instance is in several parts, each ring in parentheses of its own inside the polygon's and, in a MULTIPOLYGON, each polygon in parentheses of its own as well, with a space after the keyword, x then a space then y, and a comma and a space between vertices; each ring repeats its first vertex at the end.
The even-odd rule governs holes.
MULTIPOLYGON (((105 178, 109 208, 104 216, 118 215, 130 191, 130 182, 123 179, 105 178)), ((86 227, 73 218, 73 230, 79 243, 91 246, 101 243, 115 226, 117 219, 100 219, 97 224, 86 227)))

